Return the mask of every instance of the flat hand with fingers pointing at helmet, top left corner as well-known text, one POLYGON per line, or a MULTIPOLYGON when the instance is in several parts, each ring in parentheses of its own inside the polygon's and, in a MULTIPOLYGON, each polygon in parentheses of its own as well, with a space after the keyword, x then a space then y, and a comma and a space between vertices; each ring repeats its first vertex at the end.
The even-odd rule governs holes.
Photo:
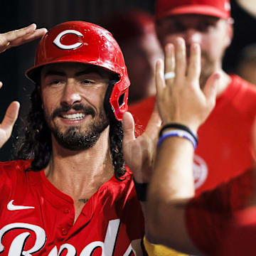
POLYGON ((0 34, 0 53, 13 47, 28 43, 37 38, 41 38, 47 32, 46 28, 36 29, 36 24, 31 24, 26 28, 0 34))

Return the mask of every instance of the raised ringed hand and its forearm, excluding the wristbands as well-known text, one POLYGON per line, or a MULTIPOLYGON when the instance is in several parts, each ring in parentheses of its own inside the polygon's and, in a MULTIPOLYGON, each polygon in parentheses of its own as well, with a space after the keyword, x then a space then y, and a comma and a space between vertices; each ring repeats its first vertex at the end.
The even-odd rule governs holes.
MULTIPOLYGON (((182 38, 166 46, 165 67, 159 60, 155 73, 156 102, 164 124, 183 124, 196 133, 208 117, 215 105, 220 75, 211 75, 202 90, 200 73, 198 44, 191 45, 189 60, 182 38)), ((187 203, 194 196, 194 147, 185 138, 165 137, 157 150, 147 193, 146 236, 156 244, 198 255, 184 218, 187 203)))

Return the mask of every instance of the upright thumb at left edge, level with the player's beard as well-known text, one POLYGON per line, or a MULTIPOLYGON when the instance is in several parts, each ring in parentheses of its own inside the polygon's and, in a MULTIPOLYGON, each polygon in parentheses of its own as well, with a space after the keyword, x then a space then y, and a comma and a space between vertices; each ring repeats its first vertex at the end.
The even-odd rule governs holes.
POLYGON ((11 102, 9 107, 6 110, 6 114, 4 116, 4 120, 1 123, 1 128, 5 129, 7 132, 8 130, 12 130, 14 127, 14 123, 16 122, 16 119, 18 117, 18 110, 19 110, 20 104, 18 102, 11 102))

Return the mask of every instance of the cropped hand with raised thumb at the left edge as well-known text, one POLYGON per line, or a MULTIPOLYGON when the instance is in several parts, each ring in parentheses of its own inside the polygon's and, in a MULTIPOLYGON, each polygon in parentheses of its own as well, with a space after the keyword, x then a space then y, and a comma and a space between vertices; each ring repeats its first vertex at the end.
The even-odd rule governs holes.
MULTIPOLYGON (((2 87, 2 85, 2 82, 0 82, 0 88, 2 87)), ((6 110, 4 120, 0 124, 0 148, 7 142, 7 140, 11 136, 14 123, 16 122, 16 119, 18 117, 19 106, 20 105, 18 102, 11 102, 8 109, 6 110)))

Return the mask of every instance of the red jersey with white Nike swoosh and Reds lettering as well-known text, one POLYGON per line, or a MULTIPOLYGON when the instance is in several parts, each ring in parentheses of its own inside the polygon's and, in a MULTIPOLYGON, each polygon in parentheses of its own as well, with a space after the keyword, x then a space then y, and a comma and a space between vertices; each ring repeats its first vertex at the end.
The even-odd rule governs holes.
POLYGON ((104 183, 74 223, 73 199, 29 165, 0 163, 0 255, 143 255, 144 218, 129 171, 104 183))

